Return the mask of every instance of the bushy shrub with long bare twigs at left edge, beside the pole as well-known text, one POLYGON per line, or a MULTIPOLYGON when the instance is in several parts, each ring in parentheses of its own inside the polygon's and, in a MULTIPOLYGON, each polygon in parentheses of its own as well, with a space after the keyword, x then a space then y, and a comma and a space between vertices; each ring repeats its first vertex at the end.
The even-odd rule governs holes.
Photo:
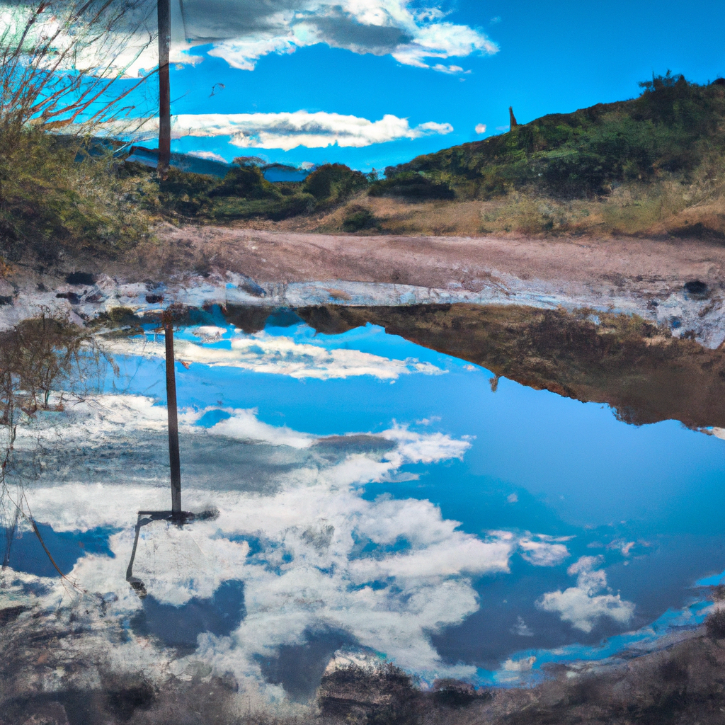
POLYGON ((108 252, 146 234, 127 202, 133 184, 111 173, 112 145, 96 137, 140 123, 130 99, 153 74, 121 79, 152 42, 152 9, 147 0, 0 1, 5 259, 30 251, 48 265, 63 247, 108 252))

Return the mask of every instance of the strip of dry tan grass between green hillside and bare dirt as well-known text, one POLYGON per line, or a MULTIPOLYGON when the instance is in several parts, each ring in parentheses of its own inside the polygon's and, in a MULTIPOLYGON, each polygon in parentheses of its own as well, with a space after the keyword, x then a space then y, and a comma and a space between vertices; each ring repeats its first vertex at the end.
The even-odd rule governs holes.
POLYGON ((343 232, 345 218, 369 209, 376 226, 357 234, 402 236, 692 236, 725 239, 725 183, 629 183, 608 196, 571 201, 513 191, 489 201, 409 203, 360 195, 337 209, 281 222, 244 220, 238 228, 343 232))

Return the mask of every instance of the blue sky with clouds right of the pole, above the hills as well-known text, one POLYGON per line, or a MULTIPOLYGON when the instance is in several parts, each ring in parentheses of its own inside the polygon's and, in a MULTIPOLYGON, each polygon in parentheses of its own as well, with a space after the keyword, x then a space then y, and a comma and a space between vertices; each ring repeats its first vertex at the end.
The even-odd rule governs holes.
POLYGON ((653 72, 725 75, 706 0, 186 0, 186 33, 217 38, 202 45, 178 3, 173 149, 228 161, 380 170, 505 132, 509 105, 526 123, 636 96, 653 72))

